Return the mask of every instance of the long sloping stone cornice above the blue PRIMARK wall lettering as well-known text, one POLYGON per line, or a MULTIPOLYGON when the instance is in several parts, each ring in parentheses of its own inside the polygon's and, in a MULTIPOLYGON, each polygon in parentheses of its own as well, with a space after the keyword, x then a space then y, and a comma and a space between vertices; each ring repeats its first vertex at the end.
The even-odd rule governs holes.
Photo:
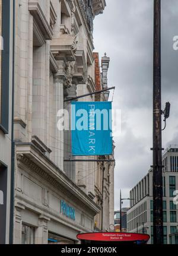
POLYGON ((43 177, 51 185, 68 194, 68 197, 78 201, 78 204, 84 204, 94 214, 100 211, 100 208, 98 208, 94 201, 77 184, 72 182, 45 154, 34 147, 33 144, 15 143, 15 145, 18 166, 21 164, 27 166, 31 172, 43 177))

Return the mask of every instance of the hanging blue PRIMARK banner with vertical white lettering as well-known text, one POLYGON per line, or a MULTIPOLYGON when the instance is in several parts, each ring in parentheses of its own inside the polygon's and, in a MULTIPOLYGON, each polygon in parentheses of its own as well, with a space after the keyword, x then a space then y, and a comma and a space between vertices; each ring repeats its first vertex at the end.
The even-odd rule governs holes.
POLYGON ((112 154, 112 102, 71 102, 72 154, 112 154))

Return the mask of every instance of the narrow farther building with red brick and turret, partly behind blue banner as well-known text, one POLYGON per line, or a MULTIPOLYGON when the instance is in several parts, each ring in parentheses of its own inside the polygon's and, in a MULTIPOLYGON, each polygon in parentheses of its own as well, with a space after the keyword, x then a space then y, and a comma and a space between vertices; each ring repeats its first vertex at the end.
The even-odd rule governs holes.
MULTIPOLYGON (((93 53, 95 60, 95 88, 96 91, 107 89, 107 73, 110 58, 105 55, 101 58, 97 52, 93 53), (101 67, 101 71, 100 71, 101 67)), ((107 101, 109 92, 95 94, 95 101, 107 101)), ((112 156, 100 156, 98 159, 114 160, 114 143, 112 156)), ((95 172, 95 201, 101 211, 95 217, 94 227, 96 230, 109 231, 114 225, 114 169, 115 162, 98 162, 95 172)))

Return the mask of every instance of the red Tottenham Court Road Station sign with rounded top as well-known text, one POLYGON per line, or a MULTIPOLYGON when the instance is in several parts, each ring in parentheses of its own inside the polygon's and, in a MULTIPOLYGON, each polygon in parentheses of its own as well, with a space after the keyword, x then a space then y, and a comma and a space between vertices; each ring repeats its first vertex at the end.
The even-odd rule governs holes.
POLYGON ((103 241, 103 242, 134 242, 142 241, 147 243, 150 236, 139 233, 121 233, 121 232, 104 232, 104 233, 81 233, 77 235, 79 240, 85 241, 103 241))

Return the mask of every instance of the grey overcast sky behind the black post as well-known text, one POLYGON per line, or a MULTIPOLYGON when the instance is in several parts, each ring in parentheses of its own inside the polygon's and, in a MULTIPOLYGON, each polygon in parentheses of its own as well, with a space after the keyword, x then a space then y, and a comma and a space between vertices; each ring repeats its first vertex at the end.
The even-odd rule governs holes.
MULTIPOLYGON (((113 108, 122 110, 122 134, 115 138, 115 210, 122 197, 152 165, 153 0, 106 0, 94 20, 95 51, 110 57, 109 87, 116 86, 113 108)), ((178 144, 178 1, 162 2, 162 109, 171 103, 163 147, 178 144)), ((112 93, 111 93, 112 94, 112 93)), ((129 202, 123 204, 128 206, 129 202)))

